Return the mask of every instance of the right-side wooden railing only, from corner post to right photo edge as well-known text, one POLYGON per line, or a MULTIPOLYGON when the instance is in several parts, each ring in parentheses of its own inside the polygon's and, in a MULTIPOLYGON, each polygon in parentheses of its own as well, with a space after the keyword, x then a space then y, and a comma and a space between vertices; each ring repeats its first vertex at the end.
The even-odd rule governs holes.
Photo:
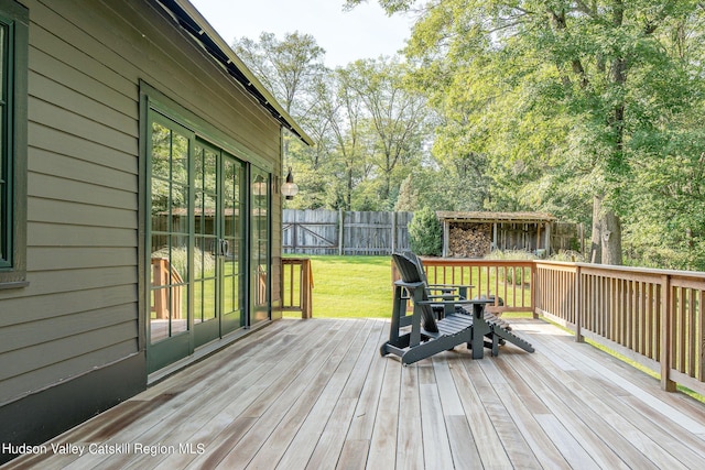
POLYGON ((536 262, 536 313, 705 393, 705 273, 536 262))

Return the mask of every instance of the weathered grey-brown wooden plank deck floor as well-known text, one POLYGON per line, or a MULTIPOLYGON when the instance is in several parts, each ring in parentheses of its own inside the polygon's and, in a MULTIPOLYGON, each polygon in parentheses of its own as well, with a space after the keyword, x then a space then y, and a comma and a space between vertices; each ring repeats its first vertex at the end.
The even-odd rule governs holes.
POLYGON ((705 468, 704 404, 546 323, 512 325, 535 353, 403 368, 379 356, 387 321, 278 321, 7 467, 705 468))

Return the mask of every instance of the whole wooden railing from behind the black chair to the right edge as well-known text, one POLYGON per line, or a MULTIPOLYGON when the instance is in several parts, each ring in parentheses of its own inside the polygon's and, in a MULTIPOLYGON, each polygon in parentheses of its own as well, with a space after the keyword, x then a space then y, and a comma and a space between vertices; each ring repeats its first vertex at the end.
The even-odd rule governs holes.
POLYGON ((705 273, 549 261, 423 259, 429 282, 499 296, 705 394, 705 273))

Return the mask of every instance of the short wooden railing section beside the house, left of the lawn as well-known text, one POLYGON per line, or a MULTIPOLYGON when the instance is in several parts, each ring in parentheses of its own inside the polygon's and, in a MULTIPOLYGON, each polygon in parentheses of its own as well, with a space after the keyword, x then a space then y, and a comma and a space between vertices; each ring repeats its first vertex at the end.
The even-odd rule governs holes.
POLYGON ((282 258, 282 310, 301 311, 301 318, 311 318, 313 310, 311 260, 307 258, 282 258))

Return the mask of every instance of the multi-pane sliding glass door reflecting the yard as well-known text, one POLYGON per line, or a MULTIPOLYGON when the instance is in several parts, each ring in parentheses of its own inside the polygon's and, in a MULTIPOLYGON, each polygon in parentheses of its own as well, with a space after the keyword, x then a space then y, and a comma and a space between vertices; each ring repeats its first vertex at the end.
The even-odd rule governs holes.
POLYGON ((150 118, 151 372, 270 318, 271 176, 161 113, 150 118))

